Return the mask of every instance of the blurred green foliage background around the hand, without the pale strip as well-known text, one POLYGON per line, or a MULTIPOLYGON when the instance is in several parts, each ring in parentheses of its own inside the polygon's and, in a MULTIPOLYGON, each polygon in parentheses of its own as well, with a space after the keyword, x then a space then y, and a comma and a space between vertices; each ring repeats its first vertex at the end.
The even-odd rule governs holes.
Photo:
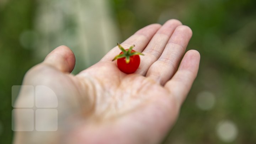
MULTIPOLYGON (((26 71, 45 57, 44 53, 41 57, 35 56, 39 46, 33 43, 40 41, 42 34, 36 40, 36 36, 29 34, 25 37, 28 42, 23 42, 22 36, 24 31, 37 30, 34 23, 42 3, 34 0, 0 1, 0 144, 11 143, 13 135, 11 86, 21 85, 26 71)), ((116 29, 107 33, 107 36, 116 36, 110 42, 113 46, 116 41, 123 41, 146 25, 163 24, 171 18, 180 20, 193 31, 187 49, 196 49, 201 54, 198 77, 176 125, 163 143, 256 143, 255 0, 105 0, 104 7, 109 12, 104 18, 110 18, 116 29)), ((94 16, 94 12, 87 15, 94 16)), ((63 29, 76 27, 72 15, 64 20, 63 29)), ((58 33, 51 36, 54 41, 58 33)), ((100 43, 97 39, 96 42, 100 43)), ((65 41, 57 44, 65 44, 65 41)), ((54 46, 49 47, 53 49, 54 46)), ((82 62, 82 56, 76 51, 79 46, 69 47, 77 53, 77 62, 82 62)), ((46 52, 50 50, 46 49, 46 52)), ((73 73, 98 59, 76 65, 73 73)))

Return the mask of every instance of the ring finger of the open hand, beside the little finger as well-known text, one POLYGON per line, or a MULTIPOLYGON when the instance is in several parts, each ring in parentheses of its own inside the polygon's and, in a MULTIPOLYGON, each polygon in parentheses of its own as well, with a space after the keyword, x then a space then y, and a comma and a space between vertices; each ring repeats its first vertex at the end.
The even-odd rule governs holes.
POLYGON ((192 31, 188 26, 178 26, 167 43, 164 52, 150 66, 146 76, 164 85, 177 70, 191 36, 192 31))

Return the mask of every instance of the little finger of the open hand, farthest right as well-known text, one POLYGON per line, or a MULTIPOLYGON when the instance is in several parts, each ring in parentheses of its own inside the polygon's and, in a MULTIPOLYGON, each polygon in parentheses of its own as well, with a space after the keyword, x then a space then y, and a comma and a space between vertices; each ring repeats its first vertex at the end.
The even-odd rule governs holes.
POLYGON ((165 84, 165 88, 181 103, 185 100, 197 76, 200 54, 196 50, 189 50, 181 61, 175 75, 165 84))

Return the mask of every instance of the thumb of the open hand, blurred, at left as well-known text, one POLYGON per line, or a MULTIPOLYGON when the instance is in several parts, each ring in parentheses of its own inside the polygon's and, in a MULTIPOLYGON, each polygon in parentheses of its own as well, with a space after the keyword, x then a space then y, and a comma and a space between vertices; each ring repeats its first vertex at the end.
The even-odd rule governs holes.
POLYGON ((59 46, 46 56, 43 64, 51 65, 62 72, 71 73, 75 66, 75 55, 68 47, 59 46))

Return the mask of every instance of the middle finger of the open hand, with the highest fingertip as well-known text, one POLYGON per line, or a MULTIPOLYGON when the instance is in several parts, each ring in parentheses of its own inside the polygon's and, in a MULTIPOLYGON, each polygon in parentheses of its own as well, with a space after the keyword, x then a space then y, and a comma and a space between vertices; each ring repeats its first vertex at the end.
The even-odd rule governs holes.
POLYGON ((158 60, 175 28, 179 25, 182 25, 182 23, 178 20, 169 20, 165 22, 151 39, 148 46, 143 50, 145 56, 140 57, 141 63, 135 73, 146 75, 149 67, 158 60))

